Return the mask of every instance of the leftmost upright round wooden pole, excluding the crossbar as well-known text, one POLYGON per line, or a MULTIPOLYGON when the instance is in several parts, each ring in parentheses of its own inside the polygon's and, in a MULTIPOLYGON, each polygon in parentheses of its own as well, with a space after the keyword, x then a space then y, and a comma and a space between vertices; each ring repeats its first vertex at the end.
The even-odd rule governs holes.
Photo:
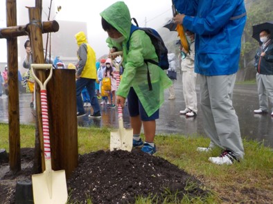
MULTIPOLYGON (((17 26, 16 0, 7 0, 7 26, 17 26)), ((18 46, 17 38, 7 39, 8 46, 8 136, 10 147, 10 170, 21 170, 19 91, 18 91, 18 46)))

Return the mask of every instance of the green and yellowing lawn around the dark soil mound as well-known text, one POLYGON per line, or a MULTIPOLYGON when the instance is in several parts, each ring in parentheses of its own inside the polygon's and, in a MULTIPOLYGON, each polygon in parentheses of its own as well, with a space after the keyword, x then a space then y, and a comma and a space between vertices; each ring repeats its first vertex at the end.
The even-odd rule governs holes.
MULTIPOLYGON (((109 149, 110 129, 78 127, 79 154, 109 149)), ((21 125, 21 147, 34 147, 35 127, 21 125)), ((175 194, 164 203, 271 203, 273 201, 273 151, 263 143, 243 140, 245 159, 231 166, 209 163, 208 158, 220 154, 220 149, 198 153, 197 147, 206 147, 209 139, 202 136, 185 137, 179 134, 157 135, 157 154, 170 163, 195 176, 204 188, 214 192, 206 198, 177 201, 175 194)), ((8 151, 8 124, 0 124, 0 147, 8 151)), ((189 184, 188 187, 191 187, 189 184)), ((136 199, 136 203, 155 203, 155 198, 136 199)), ((89 200, 89 203, 91 201, 89 200)))

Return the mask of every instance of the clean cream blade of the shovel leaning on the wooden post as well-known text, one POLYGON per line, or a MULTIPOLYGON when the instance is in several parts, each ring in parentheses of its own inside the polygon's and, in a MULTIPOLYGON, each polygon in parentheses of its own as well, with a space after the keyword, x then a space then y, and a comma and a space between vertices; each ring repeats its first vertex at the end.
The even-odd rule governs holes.
POLYGON ((67 203, 67 180, 65 171, 44 171, 32 176, 34 203, 67 203))

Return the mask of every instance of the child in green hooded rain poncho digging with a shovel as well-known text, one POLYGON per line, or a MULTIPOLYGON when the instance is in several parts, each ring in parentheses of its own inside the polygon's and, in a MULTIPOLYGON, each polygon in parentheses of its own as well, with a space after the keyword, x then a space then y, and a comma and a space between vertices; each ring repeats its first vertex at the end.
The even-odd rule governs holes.
POLYGON ((102 26, 108 34, 107 44, 110 53, 123 51, 123 77, 116 91, 116 103, 124 106, 127 98, 131 126, 134 133, 133 146, 154 154, 157 149, 154 144, 156 122, 159 118, 159 107, 164 102, 164 89, 172 85, 166 73, 157 65, 144 59, 158 62, 155 48, 150 37, 143 30, 136 30, 130 37, 130 11, 123 1, 118 1, 100 13, 102 26), (127 50, 127 41, 129 49, 127 50), (152 91, 149 90, 147 73, 150 72, 152 91), (141 126, 145 142, 139 137, 141 126))

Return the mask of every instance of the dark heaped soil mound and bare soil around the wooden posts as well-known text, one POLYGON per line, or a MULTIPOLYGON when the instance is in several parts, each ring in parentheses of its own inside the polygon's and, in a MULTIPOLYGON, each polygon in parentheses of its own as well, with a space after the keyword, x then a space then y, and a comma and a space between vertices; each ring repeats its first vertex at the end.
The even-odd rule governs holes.
MULTIPOLYGON (((15 203, 17 181, 30 182, 33 155, 34 149, 21 149, 22 170, 17 173, 8 171, 8 160, 0 160, 0 203, 15 203)), ((138 196, 155 197, 155 202, 162 203, 172 193, 177 199, 184 194, 206 196, 208 192, 201 186, 199 180, 167 160, 137 149, 80 155, 78 167, 67 180, 71 203, 87 203, 88 198, 93 203, 134 203, 138 196)))

